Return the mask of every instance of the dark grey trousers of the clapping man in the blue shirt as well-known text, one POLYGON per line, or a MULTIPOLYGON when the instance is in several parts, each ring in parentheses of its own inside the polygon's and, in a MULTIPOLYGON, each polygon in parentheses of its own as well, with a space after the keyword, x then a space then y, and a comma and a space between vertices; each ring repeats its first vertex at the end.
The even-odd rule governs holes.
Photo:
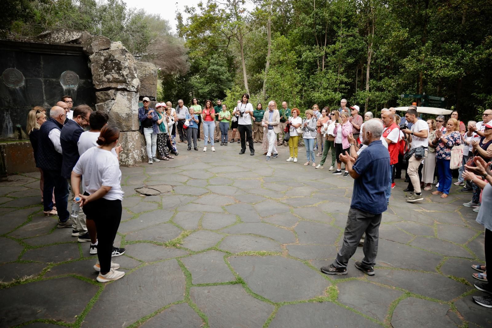
POLYGON ((348 211, 347 226, 343 233, 343 244, 333 265, 338 268, 346 268, 348 260, 354 255, 362 235, 366 232, 366 239, 362 248, 364 251, 362 265, 365 267, 374 266, 381 217, 381 213, 372 214, 351 207, 348 211))

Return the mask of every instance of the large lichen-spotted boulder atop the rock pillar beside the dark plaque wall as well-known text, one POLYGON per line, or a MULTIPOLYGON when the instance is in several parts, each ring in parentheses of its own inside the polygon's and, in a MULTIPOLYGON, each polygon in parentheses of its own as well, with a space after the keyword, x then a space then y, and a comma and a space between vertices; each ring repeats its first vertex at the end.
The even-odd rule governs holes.
POLYGON ((92 83, 96 89, 112 88, 136 92, 140 89, 137 61, 123 46, 101 50, 89 57, 92 83))

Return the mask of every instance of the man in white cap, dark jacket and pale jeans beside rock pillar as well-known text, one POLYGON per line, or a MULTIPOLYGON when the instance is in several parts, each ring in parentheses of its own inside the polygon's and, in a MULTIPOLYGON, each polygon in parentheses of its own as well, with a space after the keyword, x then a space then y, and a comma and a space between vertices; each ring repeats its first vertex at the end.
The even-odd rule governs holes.
POLYGON ((142 102, 144 106, 138 109, 138 119, 141 124, 141 132, 144 134, 145 143, 147 145, 149 164, 153 164, 154 162, 160 162, 160 160, 155 157, 157 151, 157 133, 159 132, 157 130, 157 121, 159 118, 157 117, 154 108, 149 108, 150 99, 148 97, 144 97, 142 102))

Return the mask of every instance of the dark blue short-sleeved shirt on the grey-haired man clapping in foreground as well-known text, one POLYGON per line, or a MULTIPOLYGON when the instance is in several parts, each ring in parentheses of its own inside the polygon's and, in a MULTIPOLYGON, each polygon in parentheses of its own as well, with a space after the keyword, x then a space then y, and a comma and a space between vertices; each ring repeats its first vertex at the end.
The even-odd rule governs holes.
POLYGON ((388 209, 386 190, 390 175, 390 154, 381 140, 372 141, 355 161, 353 169, 359 174, 354 181, 350 207, 372 214, 388 209))

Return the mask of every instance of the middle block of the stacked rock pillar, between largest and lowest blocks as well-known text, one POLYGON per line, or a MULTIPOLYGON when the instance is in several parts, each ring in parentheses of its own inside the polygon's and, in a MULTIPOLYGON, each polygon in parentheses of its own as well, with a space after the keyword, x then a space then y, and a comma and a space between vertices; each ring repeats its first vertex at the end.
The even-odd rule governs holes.
POLYGON ((137 131, 138 125, 138 93, 117 91, 114 100, 97 103, 96 110, 108 114, 108 124, 118 127, 121 131, 137 131))

